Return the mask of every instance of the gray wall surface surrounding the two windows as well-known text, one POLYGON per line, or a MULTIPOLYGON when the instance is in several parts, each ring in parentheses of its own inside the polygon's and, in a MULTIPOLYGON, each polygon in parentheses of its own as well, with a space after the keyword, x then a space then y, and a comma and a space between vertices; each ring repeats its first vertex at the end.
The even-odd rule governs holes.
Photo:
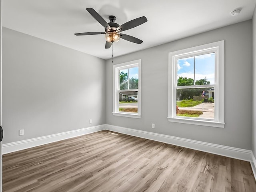
POLYGON ((120 56, 114 64, 137 59, 142 65, 142 118, 112 115, 113 64, 108 60, 106 124, 251 149, 252 20, 120 56), (168 122, 168 52, 220 40, 225 40, 225 128, 168 122))

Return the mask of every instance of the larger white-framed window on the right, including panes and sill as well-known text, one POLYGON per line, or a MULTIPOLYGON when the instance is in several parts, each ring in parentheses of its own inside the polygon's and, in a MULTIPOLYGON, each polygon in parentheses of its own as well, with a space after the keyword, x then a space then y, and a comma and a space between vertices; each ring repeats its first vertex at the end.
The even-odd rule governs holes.
POLYGON ((168 120, 224 128, 224 41, 169 53, 168 120))

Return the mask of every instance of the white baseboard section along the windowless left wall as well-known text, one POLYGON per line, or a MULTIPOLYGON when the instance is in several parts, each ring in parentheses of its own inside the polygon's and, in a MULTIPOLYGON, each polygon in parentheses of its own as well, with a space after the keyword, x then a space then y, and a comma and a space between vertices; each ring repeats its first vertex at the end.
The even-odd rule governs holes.
POLYGON ((78 130, 73 130, 73 131, 68 131, 68 132, 63 132, 63 133, 33 138, 33 139, 22 140, 18 142, 7 143, 2 145, 2 154, 7 154, 10 152, 15 152, 15 151, 35 147, 35 146, 40 146, 40 145, 44 145, 44 144, 72 138, 72 137, 77 137, 77 136, 81 136, 81 135, 85 135, 93 132, 98 132, 104 129, 105 129, 105 125, 99 125, 99 126, 82 128, 78 130))

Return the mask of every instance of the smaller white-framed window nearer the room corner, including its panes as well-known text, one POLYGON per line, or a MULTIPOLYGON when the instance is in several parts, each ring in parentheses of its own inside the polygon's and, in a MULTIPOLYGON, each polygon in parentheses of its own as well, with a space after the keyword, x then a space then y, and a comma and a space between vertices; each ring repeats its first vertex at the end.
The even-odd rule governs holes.
POLYGON ((113 66, 113 115, 140 118, 140 60, 113 66))

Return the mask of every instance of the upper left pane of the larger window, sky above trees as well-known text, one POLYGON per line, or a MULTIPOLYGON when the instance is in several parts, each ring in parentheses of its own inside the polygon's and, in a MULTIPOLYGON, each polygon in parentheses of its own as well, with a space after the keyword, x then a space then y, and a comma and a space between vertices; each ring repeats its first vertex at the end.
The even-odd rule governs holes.
POLYGON ((177 60, 177 86, 194 85, 194 57, 177 60))

